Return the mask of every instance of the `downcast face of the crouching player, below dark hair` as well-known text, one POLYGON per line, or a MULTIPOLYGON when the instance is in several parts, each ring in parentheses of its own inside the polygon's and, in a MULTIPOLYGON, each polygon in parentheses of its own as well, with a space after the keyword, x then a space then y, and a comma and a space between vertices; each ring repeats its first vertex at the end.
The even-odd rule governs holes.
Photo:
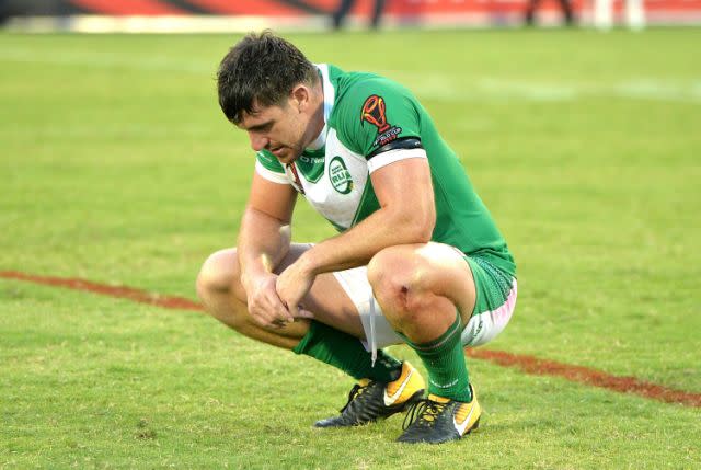
POLYGON ((244 113, 238 127, 249 133, 253 150, 268 150, 287 164, 304 150, 307 125, 308 118, 299 111, 297 101, 290 99, 281 106, 256 106, 254 113, 244 113))

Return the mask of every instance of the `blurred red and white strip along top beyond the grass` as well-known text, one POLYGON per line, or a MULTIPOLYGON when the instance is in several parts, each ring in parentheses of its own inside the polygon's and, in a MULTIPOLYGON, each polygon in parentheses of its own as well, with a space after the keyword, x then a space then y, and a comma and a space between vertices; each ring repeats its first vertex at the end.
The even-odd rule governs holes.
POLYGON ((0 0, 20 31, 233 32, 701 23, 701 0, 0 0))

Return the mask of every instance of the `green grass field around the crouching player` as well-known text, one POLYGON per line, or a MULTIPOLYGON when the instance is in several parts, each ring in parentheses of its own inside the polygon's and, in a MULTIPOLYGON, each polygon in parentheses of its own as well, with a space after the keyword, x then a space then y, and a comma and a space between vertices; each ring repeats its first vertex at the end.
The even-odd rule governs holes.
MULTIPOLYGON (((461 156, 519 268, 486 348, 701 393, 701 30, 288 37, 407 84, 461 156)), ((0 271, 194 299, 252 174, 215 96, 235 39, 0 35, 0 271)), ((296 240, 332 232, 298 204, 296 240)), ((320 432, 352 386, 334 369, 197 312, 0 279, 0 468, 701 467, 699 408, 469 367, 467 439, 320 432)))

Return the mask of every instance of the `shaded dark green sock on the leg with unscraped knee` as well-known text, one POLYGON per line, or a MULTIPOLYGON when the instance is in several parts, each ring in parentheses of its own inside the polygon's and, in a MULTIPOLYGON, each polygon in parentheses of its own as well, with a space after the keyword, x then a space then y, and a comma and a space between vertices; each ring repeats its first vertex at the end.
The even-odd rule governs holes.
POLYGON ((402 363, 382 349, 377 352, 377 360, 372 367, 372 356, 365 351, 360 340, 313 320, 292 352, 334 366, 356 380, 391 382, 402 374, 402 363))

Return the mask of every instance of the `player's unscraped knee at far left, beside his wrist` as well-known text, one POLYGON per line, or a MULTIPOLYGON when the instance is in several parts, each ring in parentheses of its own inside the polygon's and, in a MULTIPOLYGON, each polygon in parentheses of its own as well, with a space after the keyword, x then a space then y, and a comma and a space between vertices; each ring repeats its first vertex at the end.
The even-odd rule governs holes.
POLYGON ((219 250, 207 257, 197 275, 197 296, 204 301, 210 296, 234 295, 245 300, 235 249, 219 250))

